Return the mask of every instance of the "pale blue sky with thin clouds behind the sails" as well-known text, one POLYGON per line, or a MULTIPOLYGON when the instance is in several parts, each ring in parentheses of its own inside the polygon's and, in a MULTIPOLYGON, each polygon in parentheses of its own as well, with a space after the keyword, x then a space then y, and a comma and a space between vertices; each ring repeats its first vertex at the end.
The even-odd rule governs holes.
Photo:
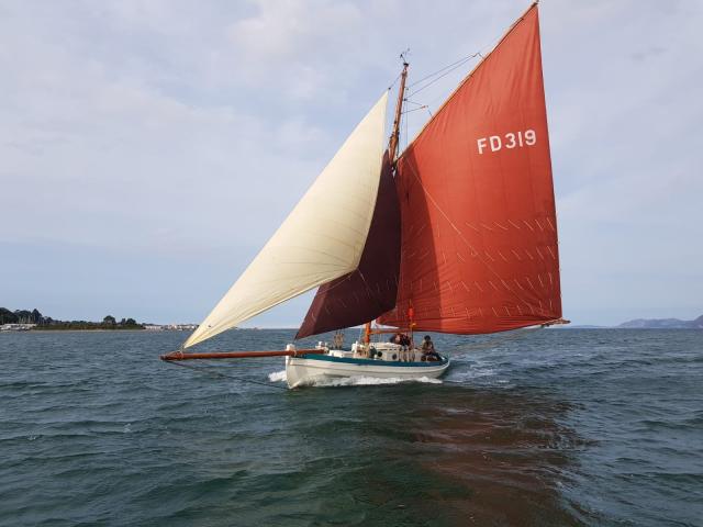
MULTIPOLYGON (((202 321, 401 52, 413 82, 528 5, 0 1, 0 306, 202 321)), ((703 2, 539 10, 565 317, 703 314, 703 2)), ((436 110, 475 65, 416 101, 436 110)), ((246 325, 295 326, 311 298, 246 325)))

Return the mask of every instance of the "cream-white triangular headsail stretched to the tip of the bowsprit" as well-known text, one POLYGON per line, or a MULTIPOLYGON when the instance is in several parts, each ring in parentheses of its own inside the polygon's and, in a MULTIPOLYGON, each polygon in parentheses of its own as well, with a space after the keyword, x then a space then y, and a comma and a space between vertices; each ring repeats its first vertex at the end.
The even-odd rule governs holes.
POLYGON ((376 206, 387 100, 388 92, 185 347, 358 267, 376 206))

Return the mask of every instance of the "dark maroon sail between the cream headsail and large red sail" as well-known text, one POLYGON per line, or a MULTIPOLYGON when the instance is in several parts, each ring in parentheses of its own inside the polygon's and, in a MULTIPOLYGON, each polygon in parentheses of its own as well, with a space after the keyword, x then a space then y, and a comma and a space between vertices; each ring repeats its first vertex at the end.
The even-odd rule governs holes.
POLYGON ((317 290, 295 338, 362 324, 391 310, 398 294, 399 266, 400 210, 386 152, 359 267, 317 290))

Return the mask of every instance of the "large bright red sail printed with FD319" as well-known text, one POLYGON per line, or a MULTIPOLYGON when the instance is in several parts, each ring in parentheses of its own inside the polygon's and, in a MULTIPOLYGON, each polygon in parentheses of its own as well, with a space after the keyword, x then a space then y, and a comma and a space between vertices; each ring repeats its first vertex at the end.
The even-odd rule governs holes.
POLYGON ((561 317, 539 22, 531 8, 398 162, 398 304, 381 322, 493 333, 561 317))

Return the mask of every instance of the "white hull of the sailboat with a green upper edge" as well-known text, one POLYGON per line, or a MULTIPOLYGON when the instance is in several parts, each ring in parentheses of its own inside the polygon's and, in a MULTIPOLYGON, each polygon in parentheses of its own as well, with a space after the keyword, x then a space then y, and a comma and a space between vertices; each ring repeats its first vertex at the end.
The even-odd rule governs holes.
POLYGON ((328 356, 314 358, 286 357, 286 379, 289 388, 315 384, 339 378, 373 379, 437 379, 447 368, 449 360, 442 362, 393 362, 339 359, 328 356), (401 366, 402 365, 402 366, 401 366))

